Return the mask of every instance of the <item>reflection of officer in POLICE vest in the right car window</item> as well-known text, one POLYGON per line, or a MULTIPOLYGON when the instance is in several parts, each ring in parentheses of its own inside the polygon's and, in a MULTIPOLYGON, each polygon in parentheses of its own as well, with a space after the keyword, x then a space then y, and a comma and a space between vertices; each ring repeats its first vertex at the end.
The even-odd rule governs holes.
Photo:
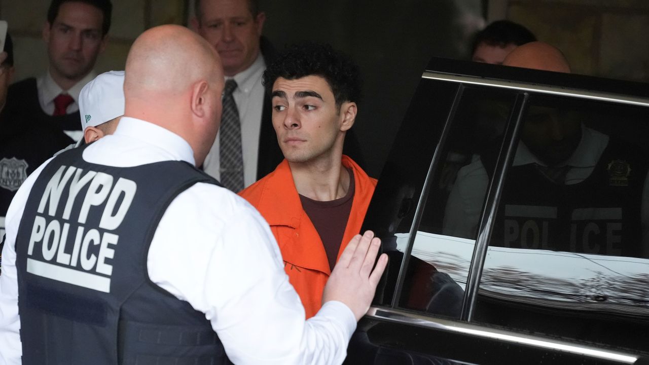
MULTIPOLYGON (((491 245, 647 256, 646 157, 588 127, 583 107, 546 97, 528 108, 491 245)), ((495 158, 482 160, 489 166, 495 158)))

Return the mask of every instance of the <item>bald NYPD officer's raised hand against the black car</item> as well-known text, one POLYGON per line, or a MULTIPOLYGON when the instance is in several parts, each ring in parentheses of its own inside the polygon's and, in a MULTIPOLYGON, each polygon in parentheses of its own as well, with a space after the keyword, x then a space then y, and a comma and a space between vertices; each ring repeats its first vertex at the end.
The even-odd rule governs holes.
POLYGON ((369 309, 376 285, 386 269, 387 255, 384 253, 372 270, 380 245, 381 240, 374 238, 372 231, 352 238, 324 286, 323 303, 341 301, 352 310, 356 320, 360 320, 369 309))

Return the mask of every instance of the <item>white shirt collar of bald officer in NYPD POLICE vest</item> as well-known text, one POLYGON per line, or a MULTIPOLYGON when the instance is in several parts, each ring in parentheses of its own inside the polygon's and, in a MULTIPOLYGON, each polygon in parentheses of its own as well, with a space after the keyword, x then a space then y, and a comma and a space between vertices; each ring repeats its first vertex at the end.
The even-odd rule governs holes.
POLYGON ((119 120, 117 129, 113 134, 140 140, 144 144, 163 149, 171 155, 170 159, 172 160, 186 161, 194 166, 196 165, 190 144, 178 134, 159 125, 125 116, 119 120))

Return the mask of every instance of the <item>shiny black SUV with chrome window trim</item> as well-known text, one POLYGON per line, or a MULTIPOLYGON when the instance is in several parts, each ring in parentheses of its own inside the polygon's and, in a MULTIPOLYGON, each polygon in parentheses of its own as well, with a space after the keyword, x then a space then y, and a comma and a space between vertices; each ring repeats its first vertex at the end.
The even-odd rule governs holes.
POLYGON ((347 364, 646 364, 649 85, 434 58, 347 364))

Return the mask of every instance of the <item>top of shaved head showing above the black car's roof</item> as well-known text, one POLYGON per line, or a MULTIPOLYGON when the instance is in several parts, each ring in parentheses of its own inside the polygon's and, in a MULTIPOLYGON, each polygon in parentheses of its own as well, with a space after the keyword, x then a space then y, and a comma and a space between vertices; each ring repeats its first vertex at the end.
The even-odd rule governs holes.
POLYGON ((559 49, 544 42, 520 45, 502 62, 505 66, 570 73, 570 65, 559 49))

